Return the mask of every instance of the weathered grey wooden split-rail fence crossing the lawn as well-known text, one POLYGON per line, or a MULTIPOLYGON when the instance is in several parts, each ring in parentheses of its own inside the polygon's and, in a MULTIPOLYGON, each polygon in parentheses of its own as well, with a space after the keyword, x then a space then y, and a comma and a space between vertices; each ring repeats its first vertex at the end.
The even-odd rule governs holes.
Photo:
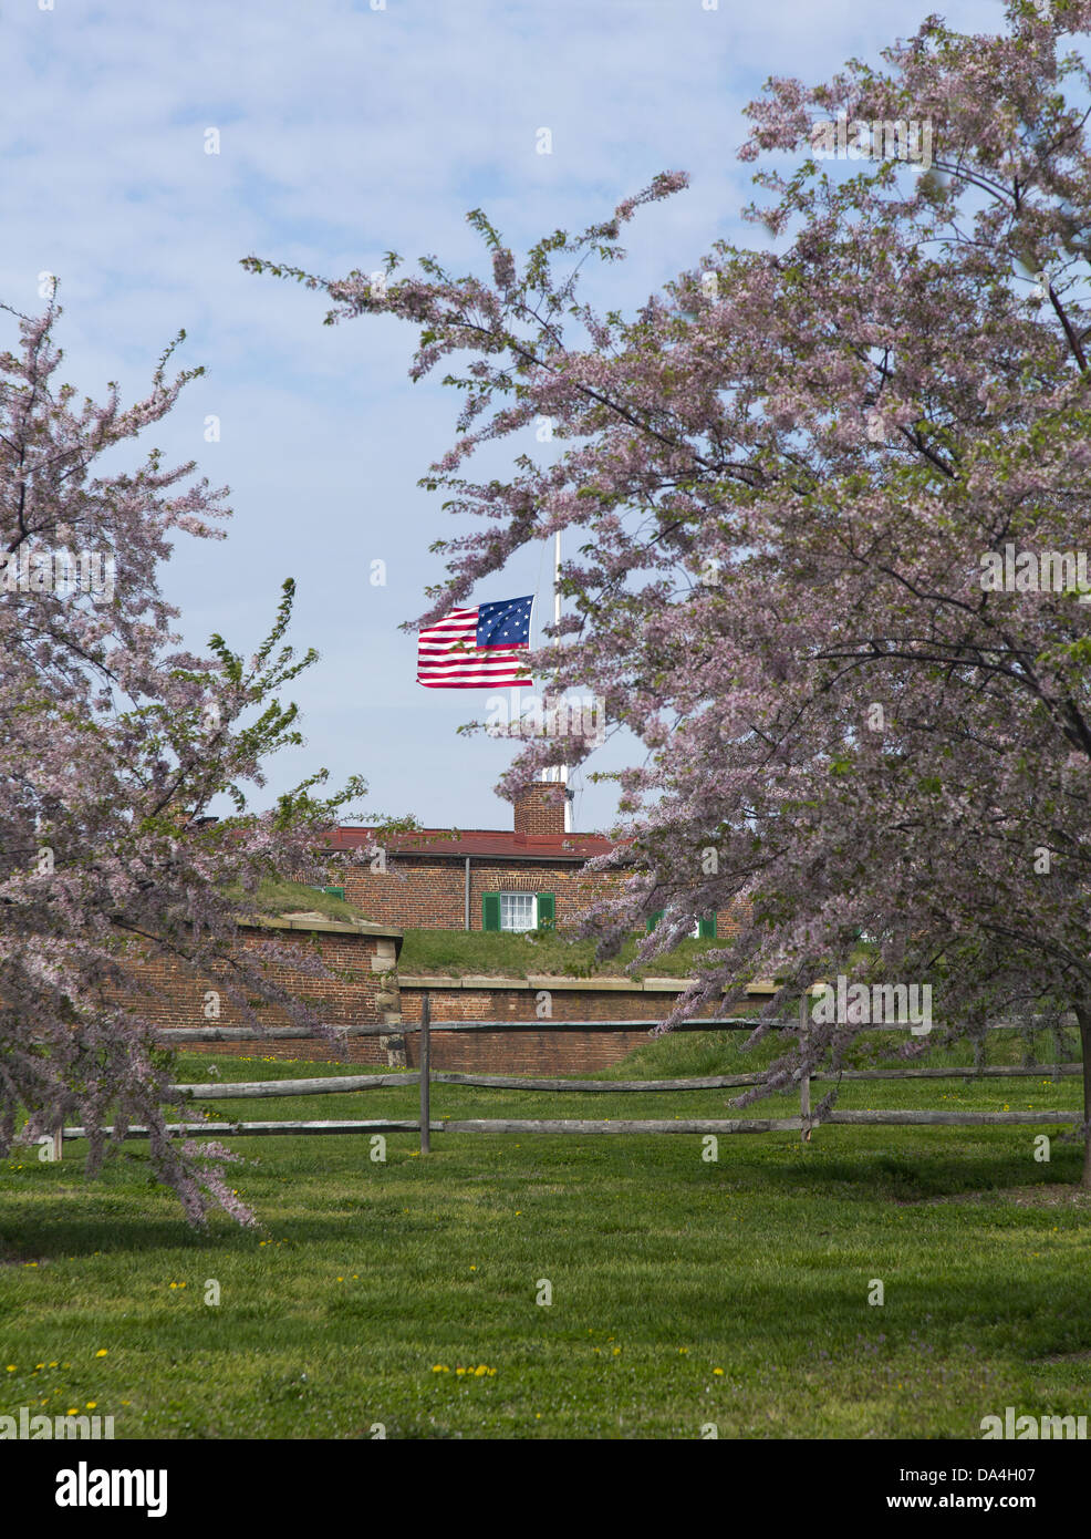
MULTIPOLYGON (((731 1017, 723 1020, 689 1020, 682 1030, 686 1031, 752 1031, 754 1019, 731 1017)), ((780 1028, 792 1027, 794 1022, 779 1022, 780 1028)), ((762 1082, 762 1074, 712 1074, 702 1079, 639 1079, 639 1080, 606 1080, 606 1079, 526 1079, 508 1074, 460 1074, 435 1073, 431 1067, 431 1039, 434 1031, 631 1031, 636 1027, 648 1027, 646 1020, 535 1020, 535 1022, 502 1022, 502 1020, 431 1020, 431 1000, 425 994, 422 1000, 420 1025, 405 1023, 402 1033, 414 1033, 420 1037, 420 1068, 399 1074, 342 1074, 319 1079, 291 1080, 252 1080, 252 1082, 217 1082, 209 1085, 174 1085, 172 1090, 192 1096, 195 1100, 263 1100, 282 1096, 343 1096, 352 1091, 380 1090, 383 1087, 420 1087, 420 1114, 409 1119, 343 1119, 325 1122, 209 1122, 202 1119, 194 1123, 172 1123, 168 1131, 172 1134, 205 1134, 220 1137, 291 1137, 291 1136, 343 1136, 343 1134, 386 1134, 386 1133, 419 1133, 420 1153, 431 1150, 432 1133, 689 1133, 689 1134, 729 1134, 729 1133, 800 1133, 803 1140, 809 1140, 811 1131, 820 1125, 836 1127, 1059 1127, 1080 1122, 1079 1111, 828 1111, 823 1117, 811 1114, 811 1083, 822 1080, 892 1080, 892 1079, 1020 1079, 1043 1076, 1063 1079, 1083 1073, 1082 1063, 1048 1063, 1037 1067, 948 1067, 948 1068, 879 1068, 879 1070, 845 1070, 840 1074, 816 1073, 799 1080, 800 1110, 792 1117, 671 1117, 671 1119, 588 1119, 588 1117, 443 1117, 432 1120, 431 1087, 432 1085, 471 1085, 482 1090, 528 1090, 528 1091, 582 1091, 594 1094, 632 1094, 686 1090, 737 1090, 762 1082)), ((889 1025, 865 1027, 863 1030, 891 1030, 889 1025)), ((988 1030, 1014 1030, 999 1022, 988 1030)), ((345 1036, 389 1036, 389 1027, 348 1027, 345 1036)), ((249 1027, 209 1027, 209 1028, 177 1028, 165 1030, 160 1034, 163 1042, 223 1042, 223 1040, 268 1040, 292 1039, 299 1040, 299 1030, 292 1027, 277 1027, 268 1031, 255 1031, 249 1027)), ((111 1133, 112 1130, 105 1130, 111 1133)), ((126 1139, 146 1137, 148 1128, 129 1127, 126 1139)), ((86 1137, 86 1130, 80 1127, 63 1128, 54 1133, 55 1153, 60 1153, 62 1139, 86 1137)))

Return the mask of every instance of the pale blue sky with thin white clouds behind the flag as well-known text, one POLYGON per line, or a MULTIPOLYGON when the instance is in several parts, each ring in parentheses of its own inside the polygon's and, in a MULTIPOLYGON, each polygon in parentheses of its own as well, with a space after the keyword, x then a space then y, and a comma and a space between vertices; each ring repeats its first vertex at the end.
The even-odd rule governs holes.
MULTIPOLYGON (((322 654, 292 691, 306 746, 271 762, 269 794, 325 765, 335 783, 362 774, 377 811, 506 828, 492 786, 512 749, 455 736, 486 693, 419 688, 414 640, 399 631, 442 576, 428 546, 454 532, 440 497, 417 488, 449 446, 454 392, 408 382, 409 328, 323 326, 320 294, 248 275, 240 259, 334 277, 395 249, 465 271, 480 254, 465 223, 474 206, 519 252, 685 169, 689 189, 628 226, 631 257, 597 291, 636 305, 714 240, 754 239, 739 219, 751 168, 736 151, 766 77, 816 82, 851 55, 874 60, 931 9, 991 29, 1002 6, 372 3, 6 6, 0 299, 38 309, 38 275, 60 277, 63 376, 97 397, 111 379, 143 394, 186 329, 177 357, 208 372, 148 445, 228 483, 234 519, 223 543, 180 537, 165 571, 183 636, 203 648, 222 631, 251 649, 291 576, 292 640, 322 654), (535 151, 543 126, 551 155, 535 151), (219 443, 205 442, 209 416, 219 443), (385 588, 368 582, 377 559, 385 588)), ((540 569, 542 549, 525 551, 474 597, 532 593, 540 569)), ((608 743, 591 766, 623 757, 608 743)), ((576 813, 577 828, 608 826, 612 790, 586 785, 576 813)))

